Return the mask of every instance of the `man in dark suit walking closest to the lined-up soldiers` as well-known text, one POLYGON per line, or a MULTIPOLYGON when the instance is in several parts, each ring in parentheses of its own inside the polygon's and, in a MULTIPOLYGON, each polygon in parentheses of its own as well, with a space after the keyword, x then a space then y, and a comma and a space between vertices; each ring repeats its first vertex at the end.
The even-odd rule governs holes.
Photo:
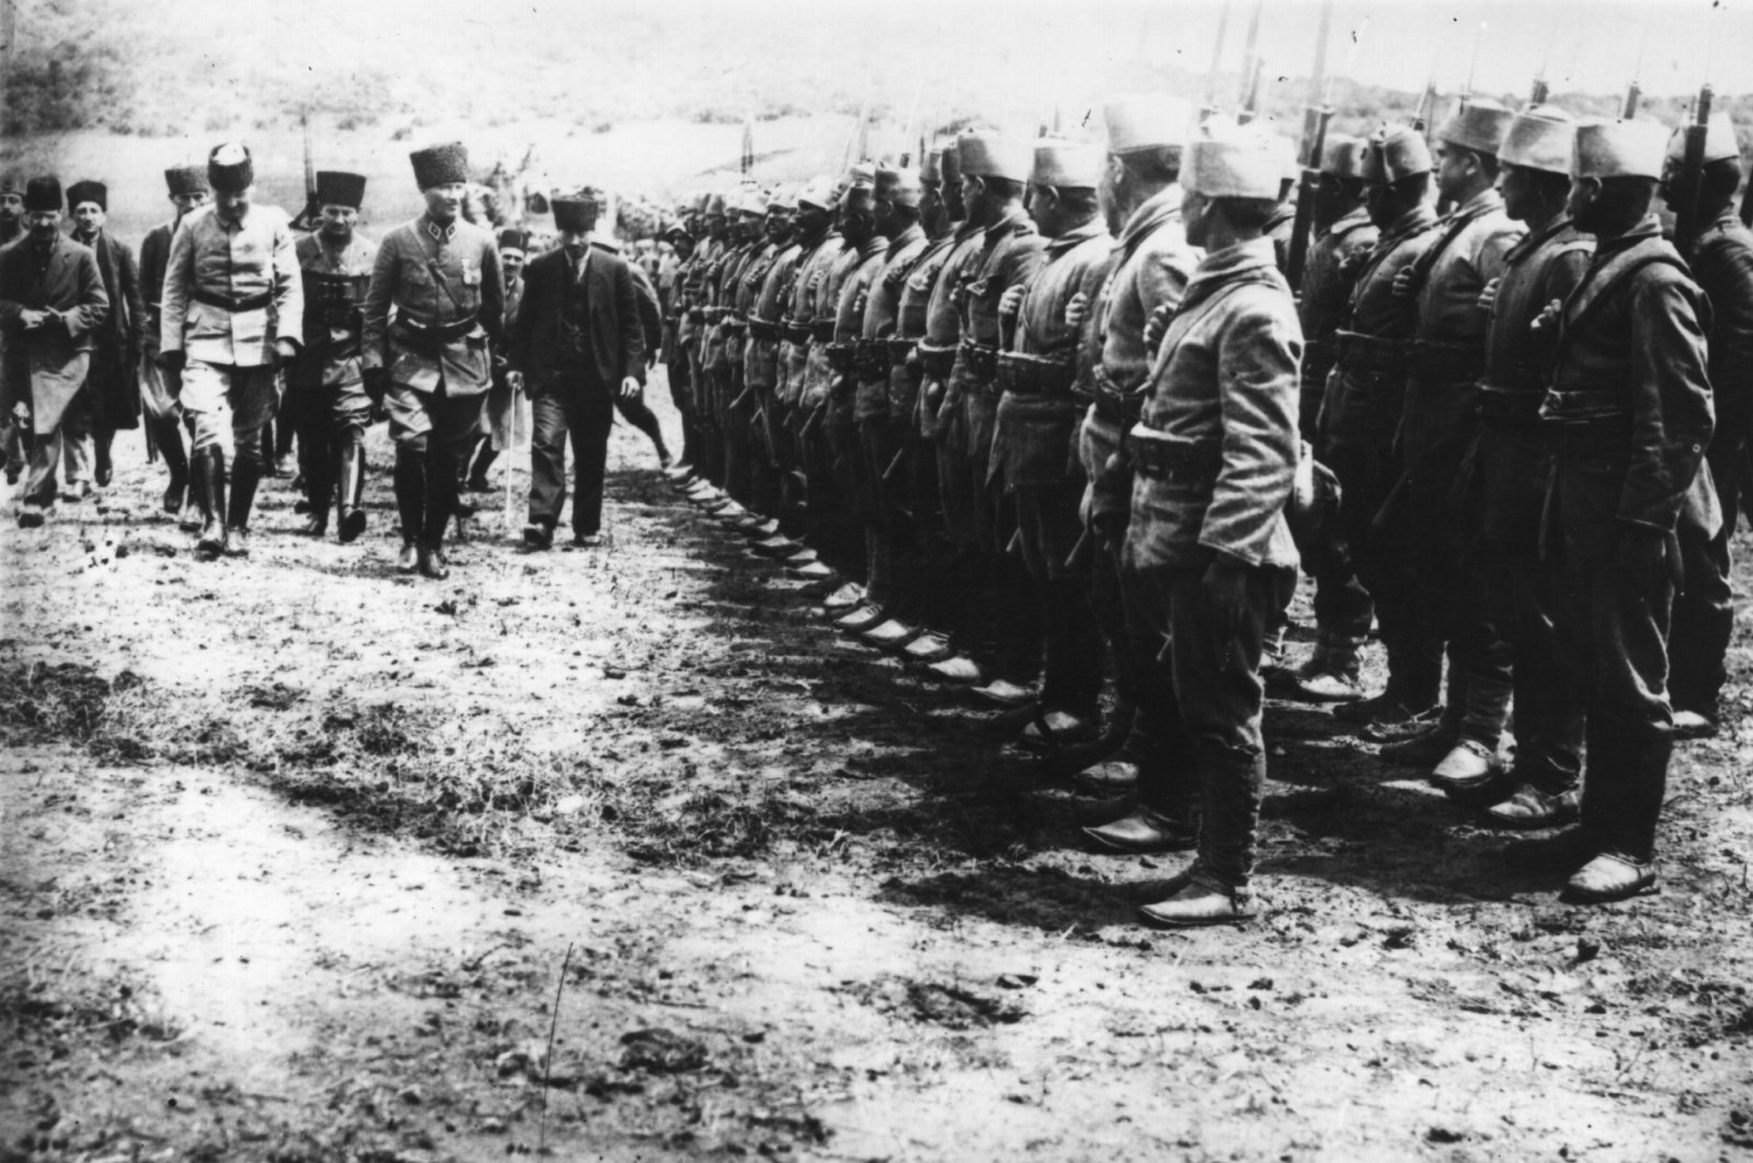
POLYGON ((596 545, 603 524, 603 464, 615 396, 645 385, 645 335, 633 270, 591 245, 601 196, 580 189, 550 200, 563 245, 524 271, 512 324, 512 368, 522 371, 535 413, 529 524, 524 543, 547 548, 566 503, 566 438, 573 455, 573 545, 596 545))

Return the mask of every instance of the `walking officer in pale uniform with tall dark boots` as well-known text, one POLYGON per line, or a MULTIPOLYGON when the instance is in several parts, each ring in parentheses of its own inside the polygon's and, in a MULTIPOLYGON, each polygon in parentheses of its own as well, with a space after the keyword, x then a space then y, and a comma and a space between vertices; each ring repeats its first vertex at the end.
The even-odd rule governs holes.
POLYGON ((214 559, 249 553, 249 513, 266 468, 261 431, 277 406, 277 370, 298 357, 293 321, 303 319, 305 296, 286 212, 251 200, 249 151, 214 147, 207 180, 212 205, 184 217, 170 242, 160 363, 182 384, 202 506, 196 553, 214 559), (235 450, 230 499, 226 436, 235 450))

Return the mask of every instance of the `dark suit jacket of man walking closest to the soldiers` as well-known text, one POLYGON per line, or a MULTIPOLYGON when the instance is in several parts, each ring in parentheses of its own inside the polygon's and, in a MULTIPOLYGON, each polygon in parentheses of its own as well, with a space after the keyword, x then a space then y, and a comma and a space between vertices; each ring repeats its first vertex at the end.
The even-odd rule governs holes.
MULTIPOLYGON (((512 368, 524 373, 529 396, 564 391, 557 368, 566 343, 564 317, 575 285, 573 261, 564 247, 540 254, 524 268, 524 301, 510 333, 512 368)), ((633 268, 619 254, 586 250, 584 285, 591 361, 608 392, 633 377, 645 384, 645 329, 633 268)))

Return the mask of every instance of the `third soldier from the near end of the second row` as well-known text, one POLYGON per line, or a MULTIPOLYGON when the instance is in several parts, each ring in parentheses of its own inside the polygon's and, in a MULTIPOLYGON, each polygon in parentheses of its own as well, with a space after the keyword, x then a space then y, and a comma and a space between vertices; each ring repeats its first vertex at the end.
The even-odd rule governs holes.
POLYGON ((1413 573, 1448 648, 1443 715, 1429 729, 1390 743, 1381 757, 1430 771, 1437 786, 1495 776, 1509 715, 1509 645, 1466 580, 1467 525, 1451 504, 1466 450, 1478 427, 1478 380, 1485 371, 1485 285, 1525 233, 1497 193, 1497 149, 1511 112, 1474 98, 1437 130, 1437 189, 1455 210, 1436 243, 1397 275, 1415 294, 1418 328, 1408 350, 1406 408, 1399 443, 1406 459, 1404 520, 1413 534, 1413 573), (1434 769, 1432 769, 1434 765, 1434 769))

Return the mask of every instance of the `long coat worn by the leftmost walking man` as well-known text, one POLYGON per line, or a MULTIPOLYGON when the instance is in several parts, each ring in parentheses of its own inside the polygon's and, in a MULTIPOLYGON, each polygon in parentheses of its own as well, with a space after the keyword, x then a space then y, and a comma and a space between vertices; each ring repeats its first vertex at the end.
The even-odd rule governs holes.
POLYGON ((30 399, 39 434, 53 433, 86 384, 95 331, 109 314, 103 275, 89 247, 56 235, 47 259, 30 236, 0 249, 0 399, 30 399), (25 310, 56 310, 25 331, 25 310))

